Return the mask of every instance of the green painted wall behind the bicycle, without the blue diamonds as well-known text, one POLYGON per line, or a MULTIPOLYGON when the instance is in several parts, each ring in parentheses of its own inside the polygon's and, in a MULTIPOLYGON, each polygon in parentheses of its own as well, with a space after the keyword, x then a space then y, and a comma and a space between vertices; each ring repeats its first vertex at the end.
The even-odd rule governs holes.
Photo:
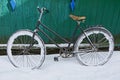
POLYGON ((120 42, 120 0, 75 0, 74 11, 70 10, 71 0, 16 0, 15 11, 11 11, 8 1, 0 0, 0 43, 7 43, 16 30, 33 30, 39 16, 36 9, 38 5, 50 11, 44 16, 43 23, 65 38, 70 38, 76 24, 69 18, 72 13, 86 16, 88 25, 104 25, 114 34, 115 41, 120 42))

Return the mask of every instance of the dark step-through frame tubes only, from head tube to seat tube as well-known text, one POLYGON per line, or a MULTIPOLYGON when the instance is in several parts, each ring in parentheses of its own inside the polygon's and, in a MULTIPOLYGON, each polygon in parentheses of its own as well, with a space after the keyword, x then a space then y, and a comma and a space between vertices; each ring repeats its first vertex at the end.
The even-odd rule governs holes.
POLYGON ((36 29, 34 30, 34 35, 38 32, 42 32, 42 34, 44 34, 50 41, 53 42, 53 44, 55 44, 58 48, 61 48, 58 43, 56 43, 55 40, 53 40, 45 31, 43 31, 40 26, 42 26, 44 29, 48 30, 49 32, 51 32, 53 35, 57 36, 58 38, 60 38, 62 41, 68 43, 68 48, 70 48, 71 44, 74 43, 74 36, 76 35, 76 31, 78 30, 78 28, 80 27, 80 25, 76 26, 75 30, 73 31, 72 34, 72 38, 70 41, 66 40, 65 38, 63 38, 62 36, 60 36, 58 33, 56 33, 54 30, 50 29, 49 27, 47 27, 46 25, 44 25, 43 23, 41 23, 40 21, 37 22, 37 26, 36 29))

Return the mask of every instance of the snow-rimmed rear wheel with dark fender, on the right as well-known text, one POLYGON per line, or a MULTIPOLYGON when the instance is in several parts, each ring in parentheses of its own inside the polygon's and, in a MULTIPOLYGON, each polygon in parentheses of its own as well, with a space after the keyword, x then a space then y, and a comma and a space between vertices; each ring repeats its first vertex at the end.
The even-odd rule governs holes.
POLYGON ((103 27, 92 27, 85 30, 85 34, 78 37, 74 47, 78 61, 87 66, 105 64, 113 54, 113 50, 113 36, 103 27))

